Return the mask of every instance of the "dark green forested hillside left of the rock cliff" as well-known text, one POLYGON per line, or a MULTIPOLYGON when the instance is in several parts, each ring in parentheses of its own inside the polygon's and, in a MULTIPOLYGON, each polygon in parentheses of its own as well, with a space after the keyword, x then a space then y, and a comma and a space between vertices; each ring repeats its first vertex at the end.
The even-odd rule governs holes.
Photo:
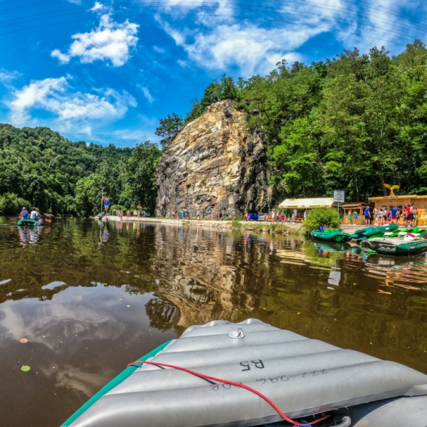
POLYGON ((154 209, 160 154, 148 142, 102 147, 70 142, 47 127, 0 125, 0 214, 15 215, 22 204, 53 214, 95 214, 101 186, 115 204, 154 209))

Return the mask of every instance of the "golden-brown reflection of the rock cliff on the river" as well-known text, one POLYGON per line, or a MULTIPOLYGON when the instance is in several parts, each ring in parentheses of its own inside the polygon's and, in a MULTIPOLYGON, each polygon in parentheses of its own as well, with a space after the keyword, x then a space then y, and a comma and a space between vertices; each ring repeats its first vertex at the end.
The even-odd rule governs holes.
POLYGON ((231 233, 186 227, 159 230, 153 261, 160 279, 156 293, 179 307, 177 327, 218 319, 236 322, 253 315, 269 265, 265 246, 253 244, 256 240, 245 236, 236 251, 231 233), (256 269, 249 273, 248 265, 256 269))

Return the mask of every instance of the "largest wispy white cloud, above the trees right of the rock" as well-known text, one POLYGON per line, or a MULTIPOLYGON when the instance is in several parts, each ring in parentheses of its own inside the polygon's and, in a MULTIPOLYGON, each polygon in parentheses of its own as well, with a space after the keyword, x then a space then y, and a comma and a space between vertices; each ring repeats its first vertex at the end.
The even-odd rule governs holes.
MULTIPOLYGON (((306 56, 296 51, 321 33, 344 48, 358 46, 364 52, 375 45, 386 45, 393 51, 399 44, 422 38, 410 21, 399 16, 407 1, 379 0, 375 6, 369 6, 343 4, 341 0, 314 4, 265 0, 253 4, 251 9, 225 0, 204 3, 205 0, 201 0, 202 5, 169 0, 162 6, 162 14, 157 14, 157 22, 177 46, 184 48, 191 65, 233 73, 238 68, 237 72, 247 77, 268 73, 282 58, 289 63, 305 60, 306 56), (176 10, 184 17, 167 17, 176 10), (191 25, 186 11, 196 11, 191 25)), ((317 54, 322 46, 315 50, 317 54)), ((178 64, 183 66, 186 59, 179 58, 178 64)))

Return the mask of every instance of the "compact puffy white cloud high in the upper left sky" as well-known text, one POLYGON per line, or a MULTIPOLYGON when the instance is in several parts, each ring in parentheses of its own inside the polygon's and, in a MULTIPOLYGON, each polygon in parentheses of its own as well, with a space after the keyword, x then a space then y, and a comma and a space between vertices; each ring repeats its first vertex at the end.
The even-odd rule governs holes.
MULTIPOLYGON (((95 7, 97 7, 95 3, 95 7)), ((102 5, 101 5, 102 6, 102 5)), ((99 7, 95 10, 98 10, 99 7)), ((130 58, 130 48, 137 46, 136 36, 138 25, 125 21, 117 23, 111 20, 110 14, 100 18, 100 25, 90 33, 77 33, 68 48, 67 53, 58 49, 52 51, 51 56, 68 63, 71 58, 80 58, 81 63, 93 63, 95 60, 110 60, 112 65, 120 67, 130 58)))

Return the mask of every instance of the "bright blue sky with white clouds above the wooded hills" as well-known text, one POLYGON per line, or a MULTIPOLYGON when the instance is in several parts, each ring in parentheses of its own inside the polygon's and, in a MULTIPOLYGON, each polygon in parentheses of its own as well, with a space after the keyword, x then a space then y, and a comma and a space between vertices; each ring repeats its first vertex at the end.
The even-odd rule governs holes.
POLYGON ((426 41, 418 0, 0 0, 0 122, 132 147, 223 73, 426 41))

